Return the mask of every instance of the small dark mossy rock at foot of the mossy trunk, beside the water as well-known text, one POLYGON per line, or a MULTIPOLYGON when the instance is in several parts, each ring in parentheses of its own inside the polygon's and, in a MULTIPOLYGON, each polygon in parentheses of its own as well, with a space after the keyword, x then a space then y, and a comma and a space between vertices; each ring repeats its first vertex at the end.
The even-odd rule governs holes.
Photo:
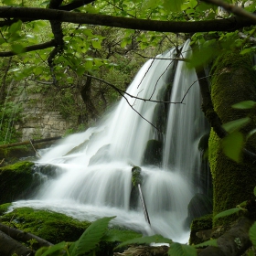
POLYGON ((201 230, 212 229, 212 214, 205 215, 201 218, 193 219, 190 228, 189 244, 198 244, 203 242, 197 237, 197 232, 201 230))

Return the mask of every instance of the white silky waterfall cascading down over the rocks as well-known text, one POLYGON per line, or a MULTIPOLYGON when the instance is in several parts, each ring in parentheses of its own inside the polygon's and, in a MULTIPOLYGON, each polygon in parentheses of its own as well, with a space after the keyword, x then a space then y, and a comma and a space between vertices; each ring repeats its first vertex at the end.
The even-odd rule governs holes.
MULTIPOLYGON (((189 58, 188 41, 182 51, 189 58)), ((58 176, 48 179, 34 200, 14 207, 49 208, 77 219, 117 216, 113 222, 131 229, 187 241, 187 205, 200 189, 192 181, 200 169, 197 143, 206 128, 196 73, 175 57, 176 49, 171 49, 148 60, 126 91, 151 101, 126 94, 97 127, 48 149, 38 164, 55 165, 58 176), (182 104, 158 102, 181 101, 186 93, 182 104), (142 168, 151 227, 140 201, 131 201, 133 165, 142 168)))

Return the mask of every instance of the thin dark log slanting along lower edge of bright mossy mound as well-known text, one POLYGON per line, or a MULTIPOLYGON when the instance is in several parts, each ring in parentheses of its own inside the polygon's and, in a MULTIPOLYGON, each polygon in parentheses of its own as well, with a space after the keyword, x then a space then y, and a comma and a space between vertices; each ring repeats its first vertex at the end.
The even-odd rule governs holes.
MULTIPOLYGON (((22 242, 27 242, 28 240, 37 240, 37 247, 43 247, 43 246, 51 246, 53 245, 48 240, 43 240, 33 234, 24 232, 19 229, 13 229, 10 228, 2 223, 0 223, 0 231, 4 232, 7 236, 11 237, 14 240, 19 240, 22 242)), ((0 241, 1 242, 1 241, 0 241)), ((0 254, 2 255, 2 254, 0 254)), ((11 254, 10 254, 11 255, 11 254)))

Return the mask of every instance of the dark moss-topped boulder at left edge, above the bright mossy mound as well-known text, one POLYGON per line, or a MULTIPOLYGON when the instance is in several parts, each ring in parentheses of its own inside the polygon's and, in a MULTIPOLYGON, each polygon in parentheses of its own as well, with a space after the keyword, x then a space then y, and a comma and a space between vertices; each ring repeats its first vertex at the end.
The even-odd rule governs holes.
POLYGON ((33 166, 30 162, 19 162, 0 168, 0 204, 25 197, 33 182, 33 166))

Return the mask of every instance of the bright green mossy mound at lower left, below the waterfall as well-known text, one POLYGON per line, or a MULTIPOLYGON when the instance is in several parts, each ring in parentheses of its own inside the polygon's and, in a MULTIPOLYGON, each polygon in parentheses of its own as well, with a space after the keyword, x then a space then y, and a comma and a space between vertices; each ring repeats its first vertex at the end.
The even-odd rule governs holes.
POLYGON ((90 222, 72 219, 61 213, 33 208, 16 208, 0 220, 5 225, 35 234, 54 244, 62 240, 78 240, 90 225, 90 222))

